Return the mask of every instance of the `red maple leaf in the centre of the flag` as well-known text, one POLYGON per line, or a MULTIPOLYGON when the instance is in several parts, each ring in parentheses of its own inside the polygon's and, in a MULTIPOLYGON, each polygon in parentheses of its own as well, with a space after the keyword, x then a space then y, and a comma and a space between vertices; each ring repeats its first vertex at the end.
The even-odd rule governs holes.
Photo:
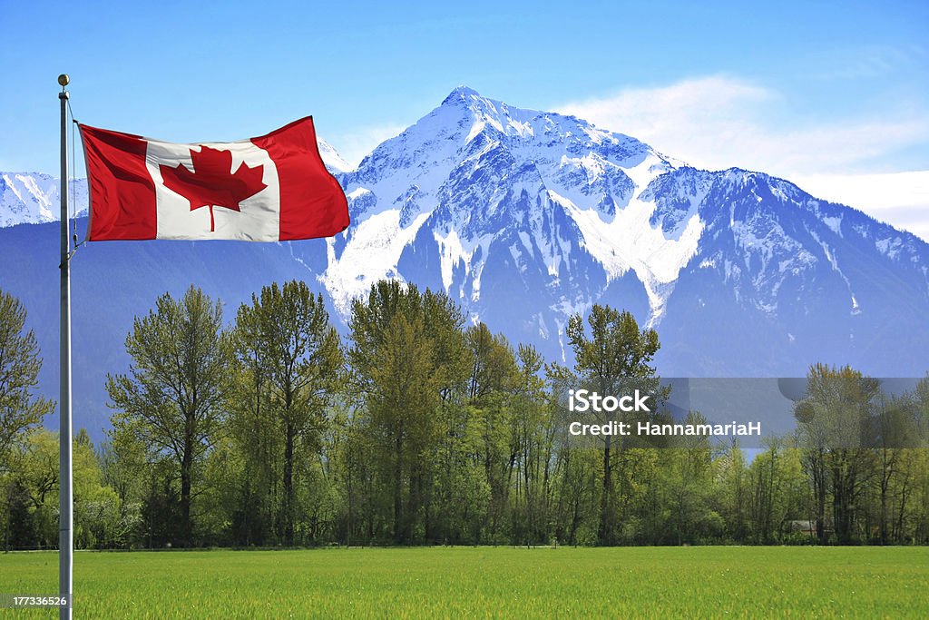
POLYGON ((183 164, 174 168, 160 165, 159 168, 164 186, 187 198, 191 211, 202 206, 210 207, 210 232, 216 230, 214 206, 241 211, 239 203, 268 187, 261 181, 263 165, 253 168, 242 163, 233 173, 232 153, 229 151, 202 146, 200 151, 190 149, 190 158, 193 160, 193 172, 183 164))

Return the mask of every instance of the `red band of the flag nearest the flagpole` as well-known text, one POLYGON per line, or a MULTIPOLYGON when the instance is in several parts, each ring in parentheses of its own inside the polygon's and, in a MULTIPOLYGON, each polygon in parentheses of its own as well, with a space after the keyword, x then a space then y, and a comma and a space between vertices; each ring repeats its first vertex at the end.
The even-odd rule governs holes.
POLYGON ((80 125, 87 178, 87 239, 154 239, 158 232, 155 184, 145 167, 148 143, 138 136, 80 125))

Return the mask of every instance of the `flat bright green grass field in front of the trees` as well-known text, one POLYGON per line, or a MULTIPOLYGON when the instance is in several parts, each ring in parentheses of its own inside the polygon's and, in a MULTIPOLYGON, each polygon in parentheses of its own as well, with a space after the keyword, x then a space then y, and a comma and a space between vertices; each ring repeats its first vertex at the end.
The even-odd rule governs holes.
MULTIPOLYGON (((929 617, 929 548, 78 552, 74 574, 75 618, 929 617)), ((0 554, 0 592, 57 579, 56 553, 0 554)))

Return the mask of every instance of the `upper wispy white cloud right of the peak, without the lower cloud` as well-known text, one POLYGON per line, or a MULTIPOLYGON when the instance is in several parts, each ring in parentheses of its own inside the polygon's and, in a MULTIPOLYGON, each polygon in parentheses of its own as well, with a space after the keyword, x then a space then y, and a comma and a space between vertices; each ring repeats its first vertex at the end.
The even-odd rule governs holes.
POLYGON ((778 91, 726 76, 622 90, 560 106, 596 125, 643 139, 661 152, 707 168, 733 165, 788 175, 838 173, 929 140, 925 113, 821 124, 771 120, 784 114, 778 91))

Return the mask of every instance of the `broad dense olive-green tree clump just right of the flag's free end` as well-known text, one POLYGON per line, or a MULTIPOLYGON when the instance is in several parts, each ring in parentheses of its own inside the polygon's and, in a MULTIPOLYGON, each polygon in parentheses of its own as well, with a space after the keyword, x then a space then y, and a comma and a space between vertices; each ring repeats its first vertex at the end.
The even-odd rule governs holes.
POLYGON ((352 305, 352 386, 383 490, 370 505, 369 536, 409 542, 441 535, 427 532, 436 520, 428 486, 466 377, 462 323, 449 297, 397 282, 373 285, 366 302, 352 305))

